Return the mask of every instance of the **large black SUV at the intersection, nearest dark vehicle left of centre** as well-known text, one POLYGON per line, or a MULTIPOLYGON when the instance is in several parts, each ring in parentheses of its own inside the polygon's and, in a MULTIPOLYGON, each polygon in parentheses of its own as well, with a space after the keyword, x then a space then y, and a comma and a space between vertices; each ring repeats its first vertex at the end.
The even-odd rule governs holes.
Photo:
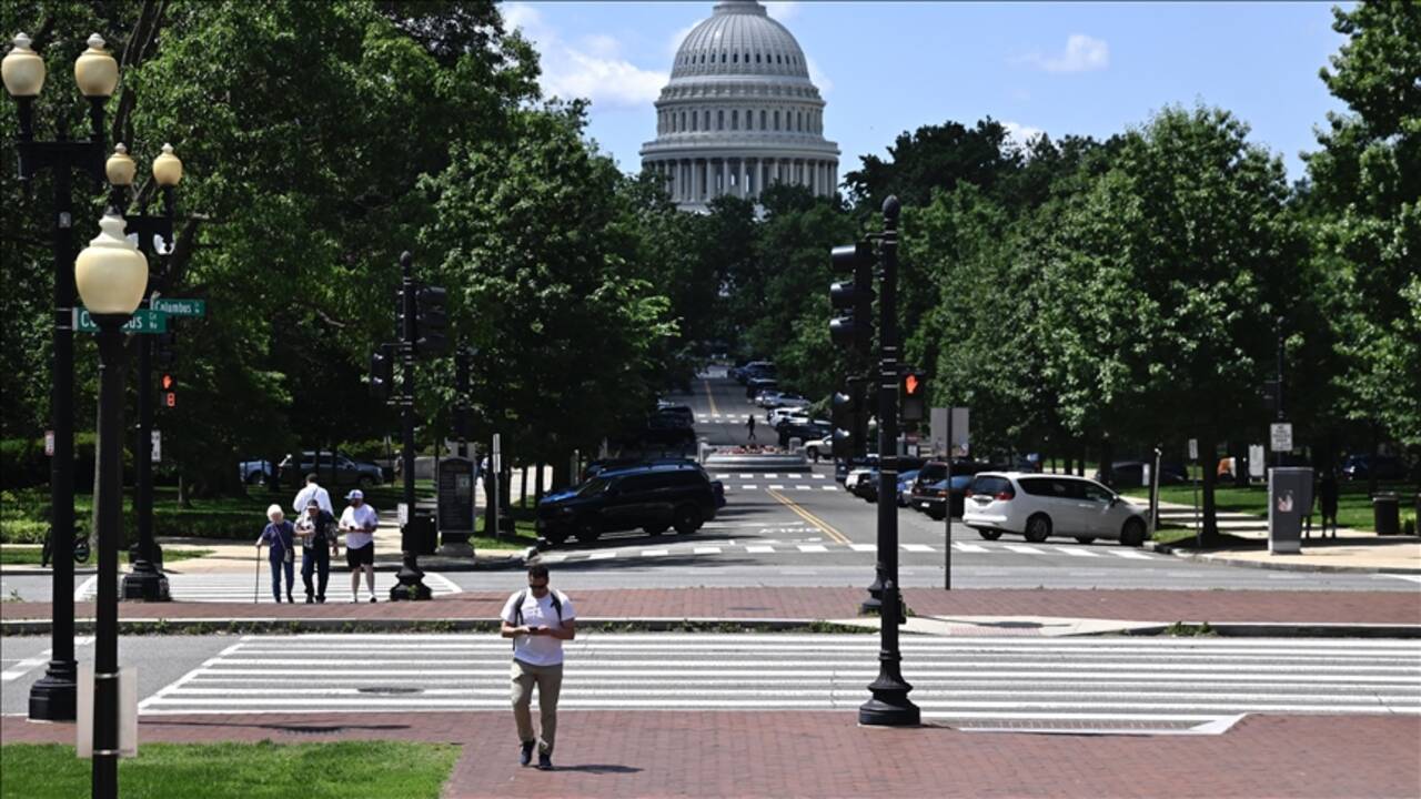
POLYGON ((594 542, 603 533, 668 527, 681 535, 715 519, 715 486, 695 463, 655 465, 603 472, 585 483, 543 498, 537 506, 539 535, 551 545, 576 537, 594 542))

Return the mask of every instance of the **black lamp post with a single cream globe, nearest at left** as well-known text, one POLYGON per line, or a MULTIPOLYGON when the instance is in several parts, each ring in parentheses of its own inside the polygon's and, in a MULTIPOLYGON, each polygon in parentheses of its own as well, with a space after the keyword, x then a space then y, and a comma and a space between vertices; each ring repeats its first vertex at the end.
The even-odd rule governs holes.
POLYGON ((118 540, 124 526, 124 324, 144 300, 148 259, 124 237, 112 209, 99 235, 74 262, 74 283, 99 327, 98 394, 98 601, 94 634, 95 799, 118 796, 118 540))

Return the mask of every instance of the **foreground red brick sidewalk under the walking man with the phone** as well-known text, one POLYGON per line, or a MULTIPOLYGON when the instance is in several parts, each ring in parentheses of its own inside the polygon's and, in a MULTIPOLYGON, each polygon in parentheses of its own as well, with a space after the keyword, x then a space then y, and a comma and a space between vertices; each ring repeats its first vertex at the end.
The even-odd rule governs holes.
MULTIPOLYGON (((550 773, 517 766, 503 712, 144 717, 139 739, 456 742, 450 798, 1421 793, 1415 717, 1249 717, 1199 736, 871 729, 853 712, 566 711, 560 721, 550 773)), ((7 744, 74 742, 72 725, 20 718, 0 732, 7 744)))

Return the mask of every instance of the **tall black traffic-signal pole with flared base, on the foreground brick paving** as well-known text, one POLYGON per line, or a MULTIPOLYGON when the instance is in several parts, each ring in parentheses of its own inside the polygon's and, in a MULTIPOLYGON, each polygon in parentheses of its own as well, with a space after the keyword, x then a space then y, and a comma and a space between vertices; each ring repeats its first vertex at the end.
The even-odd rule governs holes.
MULTIPOLYGON (((878 574, 882 594, 878 608, 878 678, 868 685, 874 698, 858 708, 858 724, 909 726, 919 722, 918 705, 902 678, 898 624, 902 600, 898 593, 898 213, 897 196, 884 200, 884 232, 880 237, 882 276, 878 289, 878 574)), ((951 499, 951 498, 949 498, 951 499)), ((948 510, 951 512, 951 502, 948 510)))

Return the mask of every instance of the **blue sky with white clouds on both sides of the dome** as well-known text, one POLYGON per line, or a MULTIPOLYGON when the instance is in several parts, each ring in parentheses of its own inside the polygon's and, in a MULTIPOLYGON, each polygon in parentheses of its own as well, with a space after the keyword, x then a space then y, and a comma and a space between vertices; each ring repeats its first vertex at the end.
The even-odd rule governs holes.
MULTIPOLYGON (((676 44, 713 3, 512 1, 543 88, 591 100, 588 134, 622 169, 655 135, 652 102, 676 44)), ((766 3, 799 38, 828 107, 840 173, 902 131, 992 117, 1029 136, 1108 136, 1168 104, 1226 108, 1283 155, 1317 149, 1343 109, 1317 77, 1344 38, 1329 3, 766 3)))

